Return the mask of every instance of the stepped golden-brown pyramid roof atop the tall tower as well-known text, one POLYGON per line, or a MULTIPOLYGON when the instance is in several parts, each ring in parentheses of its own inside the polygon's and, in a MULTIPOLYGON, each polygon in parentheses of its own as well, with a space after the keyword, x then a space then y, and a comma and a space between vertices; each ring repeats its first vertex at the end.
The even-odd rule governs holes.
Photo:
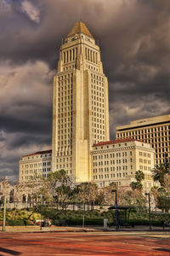
POLYGON ((80 33, 87 35, 89 38, 94 38, 91 32, 89 32, 88 27, 82 21, 75 23, 71 32, 68 33, 67 38, 80 33))

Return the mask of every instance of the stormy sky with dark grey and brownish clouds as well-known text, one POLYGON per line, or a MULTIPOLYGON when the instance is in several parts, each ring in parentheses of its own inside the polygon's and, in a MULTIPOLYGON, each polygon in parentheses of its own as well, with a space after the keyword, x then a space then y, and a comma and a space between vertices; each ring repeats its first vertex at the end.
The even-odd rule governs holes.
POLYGON ((117 125, 170 113, 169 0, 0 0, 0 177, 51 148, 52 80, 77 20, 99 39, 117 125))

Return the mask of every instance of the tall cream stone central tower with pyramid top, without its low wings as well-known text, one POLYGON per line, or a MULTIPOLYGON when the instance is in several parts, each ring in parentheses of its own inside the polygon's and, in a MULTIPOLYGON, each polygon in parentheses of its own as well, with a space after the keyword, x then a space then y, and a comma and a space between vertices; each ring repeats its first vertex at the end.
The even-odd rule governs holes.
POLYGON ((110 139, 108 82, 99 46, 81 21, 60 47, 53 96, 52 170, 89 181, 90 150, 110 139))

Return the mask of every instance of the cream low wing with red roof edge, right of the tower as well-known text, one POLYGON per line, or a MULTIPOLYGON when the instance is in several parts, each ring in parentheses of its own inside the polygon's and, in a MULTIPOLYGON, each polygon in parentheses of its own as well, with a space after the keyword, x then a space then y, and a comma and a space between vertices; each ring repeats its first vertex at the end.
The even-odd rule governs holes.
POLYGON ((92 154, 92 179, 100 187, 111 182, 129 186, 136 181, 135 172, 144 172, 144 189, 153 186, 151 169, 154 167, 154 149, 148 143, 134 139, 113 140, 94 145, 92 154))

